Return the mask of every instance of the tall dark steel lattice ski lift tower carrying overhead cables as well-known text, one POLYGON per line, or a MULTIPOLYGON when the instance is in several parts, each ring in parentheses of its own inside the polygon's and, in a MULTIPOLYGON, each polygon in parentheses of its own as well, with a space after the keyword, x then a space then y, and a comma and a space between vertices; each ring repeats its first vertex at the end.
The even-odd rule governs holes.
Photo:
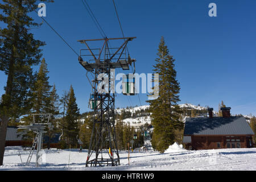
POLYGON ((115 75, 113 75, 112 71, 117 68, 130 70, 130 66, 132 67, 133 63, 135 65, 135 60, 130 59, 130 56, 127 54, 128 51, 126 51, 127 43, 133 39, 135 37, 78 41, 87 47, 87 49, 80 50, 79 63, 86 69, 86 77, 92 86, 90 106, 94 110, 93 128, 86 167, 89 165, 91 167, 120 165, 115 134, 115 93, 113 92, 115 75), (115 48, 109 47, 110 41, 117 43, 118 40, 121 42, 121 46, 115 48), (89 42, 91 44, 92 42, 103 42, 103 44, 101 48, 92 49, 89 47, 89 42), (89 52, 89 54, 84 54, 85 52, 89 52), (93 76, 92 82, 88 77, 88 73, 91 73, 93 76), (106 77, 99 78, 101 74, 104 74, 109 79, 108 85, 105 86, 106 88, 102 88, 102 81, 106 77), (98 88, 105 89, 108 93, 100 93, 98 92, 98 88), (103 150, 108 151, 108 158, 103 157, 103 150), (95 157, 91 159, 94 152, 95 157))

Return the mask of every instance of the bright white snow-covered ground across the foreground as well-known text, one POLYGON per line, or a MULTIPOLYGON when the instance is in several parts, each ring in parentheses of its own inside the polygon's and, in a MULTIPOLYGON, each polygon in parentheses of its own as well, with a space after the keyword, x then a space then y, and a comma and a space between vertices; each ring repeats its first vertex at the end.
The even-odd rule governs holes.
MULTIPOLYGON (((30 167, 23 167, 19 147, 6 147, 4 165, 1 170, 85 170, 85 171, 187 171, 187 170, 256 170, 256 148, 236 148, 222 150, 187 151, 176 143, 164 154, 153 151, 135 150, 130 154, 128 165, 127 151, 119 151, 121 166, 85 168, 87 151, 79 153, 71 150, 44 150, 44 164, 39 168, 35 165, 35 155, 30 167), (70 160, 69 160, 70 154, 70 160), (69 163, 69 165, 68 165, 69 163)), ((28 151, 20 150, 23 162, 27 160, 28 151)), ((105 154, 107 155, 107 154, 105 154)))

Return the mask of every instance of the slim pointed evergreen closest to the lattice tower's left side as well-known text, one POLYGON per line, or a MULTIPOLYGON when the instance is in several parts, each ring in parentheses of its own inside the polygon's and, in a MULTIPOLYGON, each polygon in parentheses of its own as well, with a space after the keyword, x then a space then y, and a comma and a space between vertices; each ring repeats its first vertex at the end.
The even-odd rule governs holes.
POLYGON ((77 119, 79 118, 79 108, 76 104, 76 97, 71 85, 68 93, 67 115, 65 117, 65 137, 67 137, 68 146, 73 147, 77 144, 77 135, 79 134, 77 119))

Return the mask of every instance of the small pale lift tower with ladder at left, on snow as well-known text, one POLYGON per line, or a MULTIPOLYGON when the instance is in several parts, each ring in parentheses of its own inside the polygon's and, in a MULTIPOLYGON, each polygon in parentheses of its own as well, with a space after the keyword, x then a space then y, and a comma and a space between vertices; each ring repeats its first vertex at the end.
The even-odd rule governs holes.
POLYGON ((28 126, 18 126, 18 129, 25 129, 29 131, 33 131, 36 133, 36 137, 33 141, 30 154, 27 158, 26 166, 29 166, 31 162, 31 158, 34 154, 35 148, 36 148, 36 167, 39 167, 39 158, 40 158, 40 151, 43 147, 43 134, 46 133, 44 131, 46 127, 51 126, 51 123, 49 123, 49 119, 52 114, 32 114, 33 116, 33 122, 28 126), (40 122, 39 122, 40 119, 40 122))

